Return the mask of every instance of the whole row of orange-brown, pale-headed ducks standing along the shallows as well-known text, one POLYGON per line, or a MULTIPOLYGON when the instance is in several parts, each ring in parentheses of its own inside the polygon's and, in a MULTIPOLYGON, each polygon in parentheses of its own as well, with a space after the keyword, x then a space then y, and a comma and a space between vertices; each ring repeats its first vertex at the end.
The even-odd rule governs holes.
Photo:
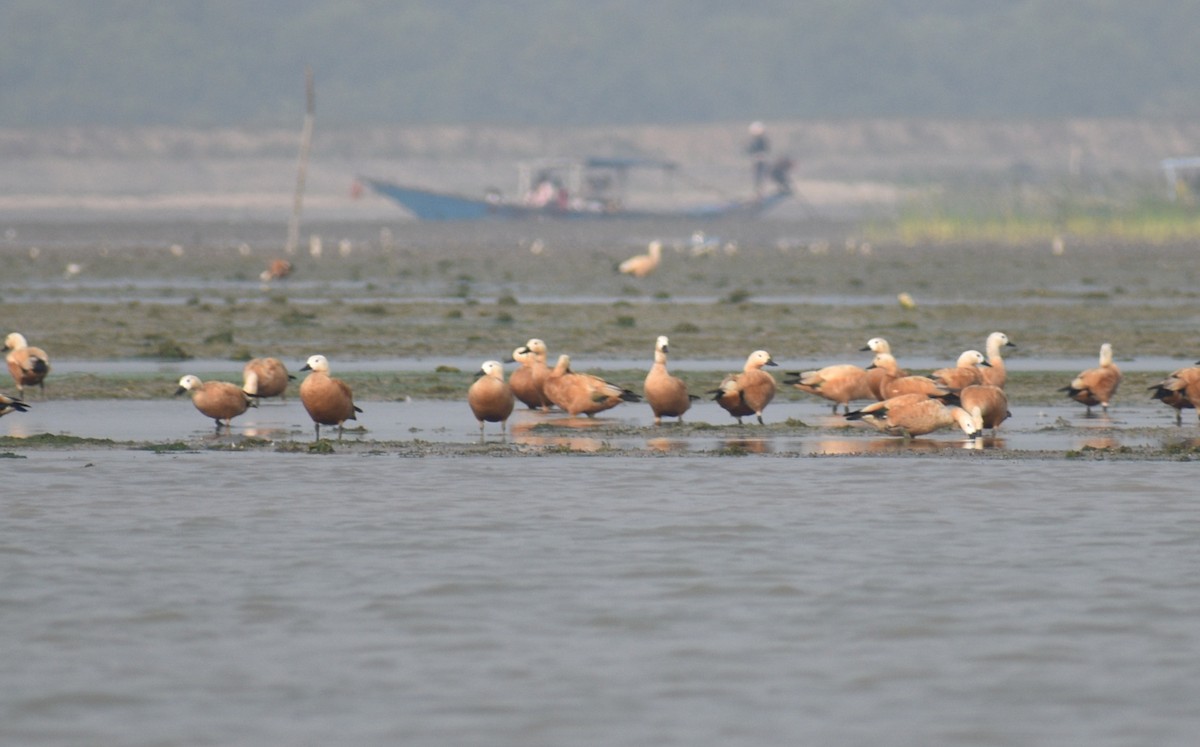
MULTIPOLYGON (((1012 347, 1016 346, 1008 335, 994 331, 988 335, 986 353, 968 349, 959 355, 955 365, 918 376, 900 367, 887 340, 872 337, 862 348, 874 353, 870 365, 838 364, 790 372, 784 384, 822 398, 832 404, 834 414, 841 407, 847 420, 860 420, 883 434, 911 438, 956 426, 968 437, 977 438, 989 429, 995 435, 1010 416, 1002 352, 1012 347), (864 400, 870 404, 851 410, 851 402, 864 400)), ((545 341, 534 337, 512 351, 508 361, 516 363, 517 369, 508 380, 502 361, 484 361, 467 392, 467 405, 479 422, 481 437, 487 423, 498 423, 503 434, 518 401, 530 410, 557 407, 572 417, 594 417, 624 402, 644 400, 654 413, 655 425, 664 418, 683 422, 700 398, 689 393, 683 380, 667 370, 668 349, 668 339, 660 335, 654 341, 654 361, 638 395, 599 376, 572 371, 571 359, 565 354, 551 366, 545 341)), ((26 387, 37 386, 44 396, 44 382, 50 371, 46 351, 29 345, 20 333, 8 334, 5 351, 18 396, 0 394, 0 416, 29 408, 24 400, 26 387)), ((764 369, 774 365, 778 364, 770 353, 755 351, 742 371, 725 376, 707 394, 739 424, 750 416, 762 424, 763 411, 776 392, 774 376, 764 369)), ((311 355, 301 371, 307 376, 300 383, 300 402, 313 422, 316 438, 320 438, 322 425, 337 426, 341 437, 344 424, 362 412, 354 404, 350 387, 330 376, 329 360, 324 355, 311 355)), ((176 395, 190 394, 196 410, 215 420, 220 430, 229 428, 233 418, 248 408, 257 407, 260 399, 282 398, 294 378, 278 358, 256 358, 244 366, 240 387, 187 375, 179 380, 176 395)), ((1100 346, 1098 365, 1081 371, 1060 392, 1086 406, 1088 414, 1092 407, 1108 412, 1121 380, 1121 370, 1112 360, 1112 346, 1105 342, 1100 346)), ((1183 410, 1200 411, 1200 364, 1171 372, 1151 390, 1153 399, 1175 410, 1176 424, 1182 424, 1183 410)))

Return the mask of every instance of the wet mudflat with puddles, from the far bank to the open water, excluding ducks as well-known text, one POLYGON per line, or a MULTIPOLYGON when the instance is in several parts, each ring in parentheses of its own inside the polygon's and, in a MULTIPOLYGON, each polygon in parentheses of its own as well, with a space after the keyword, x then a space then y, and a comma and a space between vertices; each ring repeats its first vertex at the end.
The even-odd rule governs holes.
MULTIPOLYGON (((368 413, 397 411, 383 420, 365 416, 355 442, 467 443, 478 438, 464 393, 479 363, 504 360, 534 336, 547 341, 552 358, 569 353, 576 370, 638 390, 654 339, 670 335, 672 371, 703 394, 757 348, 772 353, 782 381, 785 372, 835 363, 865 366, 870 353, 860 348, 883 336, 902 365, 925 374, 964 349, 982 349, 992 330, 1006 331, 1018 346, 1006 352, 1013 418, 995 448, 1075 452, 1104 431, 1115 434, 1106 436, 1110 453, 1116 444, 1178 458, 1189 448, 1180 443, 1196 426, 1192 410, 1176 426, 1174 411, 1150 400, 1147 390, 1170 370, 1200 359, 1189 245, 1076 244, 1067 237, 1045 244, 910 246, 871 243, 860 226, 772 220, 397 221, 307 231, 310 241, 290 258, 293 275, 266 283, 259 274, 280 255, 276 226, 10 227, 0 318, 47 348, 54 372, 47 400, 30 393, 32 412, 5 418, 0 429, 14 438, 40 432, 119 442, 198 438, 203 417, 170 398, 182 374, 239 381, 251 357, 276 355, 296 371, 307 355, 322 353, 368 413), (666 246, 655 273, 634 279, 614 270, 652 240, 666 246), (910 307, 898 301, 901 293, 913 299, 910 307), (1085 417, 1081 405, 1058 392, 1075 372, 1096 365, 1102 342, 1112 343, 1126 371, 1106 419, 1085 417), (101 401, 98 410, 83 405, 91 400, 101 401), (134 405, 118 401, 152 408, 144 422, 156 425, 139 431, 138 418, 121 414, 134 405), (178 425, 175 416, 182 418, 178 425)), ((286 441, 308 438, 311 424, 294 390, 292 396, 283 408, 264 406, 236 420, 234 437, 242 429, 257 438, 266 428, 286 441), (258 424, 265 413, 270 422, 258 424)), ((618 452, 653 449, 647 443, 660 437, 685 444, 662 449, 667 453, 721 452, 722 440, 760 437, 772 444, 760 450, 785 453, 820 452, 810 441, 829 434, 862 441, 862 448, 838 450, 869 452, 874 447, 866 444, 880 441, 869 429, 832 418, 822 400, 787 388, 768 412, 758 434, 749 424, 730 434, 736 423, 708 401, 685 425, 661 429, 665 436, 644 405, 582 424, 516 419, 506 448, 515 450, 522 429, 541 438, 571 428, 598 434, 595 440, 618 452)), ((554 438, 564 437, 547 443, 563 448, 554 438)))

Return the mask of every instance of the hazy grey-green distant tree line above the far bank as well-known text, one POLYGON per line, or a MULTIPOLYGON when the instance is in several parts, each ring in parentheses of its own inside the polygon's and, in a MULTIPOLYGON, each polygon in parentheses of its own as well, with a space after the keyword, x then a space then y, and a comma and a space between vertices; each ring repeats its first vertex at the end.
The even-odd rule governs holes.
POLYGON ((0 126, 1200 114, 1180 0, 5 0, 0 126))

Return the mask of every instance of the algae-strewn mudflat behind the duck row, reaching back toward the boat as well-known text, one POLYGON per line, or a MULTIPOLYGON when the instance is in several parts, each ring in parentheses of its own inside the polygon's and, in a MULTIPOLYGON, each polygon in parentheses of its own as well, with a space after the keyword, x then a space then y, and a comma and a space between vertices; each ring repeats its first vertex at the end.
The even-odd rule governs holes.
POLYGON ((1190 243, 1068 235, 1061 251, 1049 243, 866 245, 790 238, 808 229, 762 222, 738 227, 745 235, 731 239, 733 253, 694 256, 683 245, 635 281, 612 270, 634 249, 624 234, 498 226, 463 239, 438 227, 406 231, 418 235, 413 246, 364 244, 347 257, 298 258, 295 280, 266 289, 254 280, 266 252, 229 246, 180 257, 119 245, 102 256, 95 247, 46 249, 36 259, 14 251, 8 270, 22 280, 0 283, 0 318, 58 358, 233 364, 319 352, 335 370, 338 358, 499 359, 532 336, 581 360, 649 360, 660 334, 677 355, 727 359, 766 348, 794 367, 860 359, 858 348, 881 335, 901 363, 953 360, 994 329, 1032 358, 1091 357, 1102 341, 1118 360, 1195 354, 1181 339, 1195 327, 1200 299, 1190 243), (551 232, 542 253, 530 252, 540 240, 530 232, 551 232), (456 239, 440 243, 446 235, 456 239), (64 281, 68 263, 84 270, 64 281), (24 289, 29 282, 40 289, 24 289), (900 307, 900 292, 916 309, 900 307))

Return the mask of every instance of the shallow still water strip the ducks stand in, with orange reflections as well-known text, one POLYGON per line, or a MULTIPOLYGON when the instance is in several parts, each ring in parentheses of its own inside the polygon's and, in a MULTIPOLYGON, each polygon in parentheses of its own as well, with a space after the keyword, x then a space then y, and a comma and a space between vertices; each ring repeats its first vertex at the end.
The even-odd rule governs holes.
MULTIPOLYGON (((356 422, 342 434, 347 443, 395 443, 419 440, 434 444, 469 444, 480 441, 479 424, 462 401, 364 402, 356 422)), ((571 418, 562 412, 541 413, 518 408, 502 435, 498 424, 485 428, 484 440, 535 448, 574 452, 634 450, 644 453, 703 453, 737 449, 761 454, 904 454, 941 449, 992 449, 1014 455, 1030 452, 1068 452, 1084 448, 1200 444, 1194 416, 1176 426, 1171 410, 1121 406, 1108 416, 1086 417, 1078 405, 1044 407, 1013 406, 1013 417, 995 437, 974 442, 958 430, 944 430, 904 442, 881 436, 862 423, 833 416, 816 401, 779 401, 766 411, 768 425, 788 420, 794 428, 762 429, 754 418, 737 426, 715 402, 696 402, 688 412, 689 425, 715 429, 680 429, 673 419, 659 428, 644 404, 622 405, 598 418, 571 418), (544 426, 554 426, 547 429, 544 426)), ((1189 413, 1192 411, 1188 411, 1189 413)), ((49 400, 34 401, 28 412, 0 419, 0 436, 30 437, 40 434, 115 442, 197 446, 238 444, 246 438, 272 442, 314 438, 312 420, 295 399, 265 401, 234 419, 232 429, 216 432, 215 423, 194 410, 185 398, 161 400, 49 400)), ((323 428, 322 437, 337 431, 323 428)), ((18 449, 20 450, 20 449, 18 449)))

